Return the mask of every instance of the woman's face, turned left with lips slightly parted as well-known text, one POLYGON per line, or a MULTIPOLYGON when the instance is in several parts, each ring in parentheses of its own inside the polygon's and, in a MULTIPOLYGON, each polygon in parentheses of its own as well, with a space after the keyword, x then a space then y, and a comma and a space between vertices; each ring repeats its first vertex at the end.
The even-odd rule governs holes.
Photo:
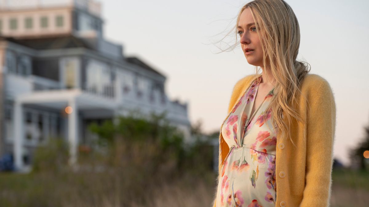
POLYGON ((241 48, 249 64, 263 67, 263 50, 261 42, 256 32, 256 25, 252 18, 250 8, 245 8, 239 17, 237 25, 238 35, 240 37, 241 48), (246 50, 253 50, 247 52, 246 50))

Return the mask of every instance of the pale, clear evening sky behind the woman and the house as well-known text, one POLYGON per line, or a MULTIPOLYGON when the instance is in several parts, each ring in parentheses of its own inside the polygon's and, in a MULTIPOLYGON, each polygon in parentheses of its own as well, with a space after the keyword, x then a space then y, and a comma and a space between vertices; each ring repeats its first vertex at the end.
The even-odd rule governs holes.
MULTIPOLYGON (((253 74, 238 45, 221 52, 238 11, 237 0, 100 0, 107 40, 123 45, 124 56, 137 56, 163 73, 170 99, 188 102, 190 122, 204 132, 219 131, 234 84, 253 74)), ((334 93, 337 123, 334 157, 349 164, 369 126, 369 1, 286 0, 300 25, 297 60, 325 78, 334 93)), ((231 34, 232 35, 232 34, 231 34)))

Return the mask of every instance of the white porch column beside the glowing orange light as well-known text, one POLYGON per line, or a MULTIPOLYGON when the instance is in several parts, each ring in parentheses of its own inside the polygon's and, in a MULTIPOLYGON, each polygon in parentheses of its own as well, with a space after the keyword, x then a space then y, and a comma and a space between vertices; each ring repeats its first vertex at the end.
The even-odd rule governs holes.
POLYGON ((78 108, 76 99, 69 100, 69 106, 72 107, 72 113, 68 114, 68 141, 69 141, 69 164, 74 165, 77 161, 78 147, 78 108))

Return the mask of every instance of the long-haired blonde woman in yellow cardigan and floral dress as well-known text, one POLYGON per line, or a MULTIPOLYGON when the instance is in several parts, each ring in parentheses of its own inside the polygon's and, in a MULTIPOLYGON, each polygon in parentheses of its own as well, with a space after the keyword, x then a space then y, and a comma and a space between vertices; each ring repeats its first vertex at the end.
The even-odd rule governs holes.
POLYGON ((328 82, 296 60, 295 14, 283 0, 255 0, 236 25, 247 62, 262 74, 234 86, 213 206, 329 206, 335 100, 328 82))

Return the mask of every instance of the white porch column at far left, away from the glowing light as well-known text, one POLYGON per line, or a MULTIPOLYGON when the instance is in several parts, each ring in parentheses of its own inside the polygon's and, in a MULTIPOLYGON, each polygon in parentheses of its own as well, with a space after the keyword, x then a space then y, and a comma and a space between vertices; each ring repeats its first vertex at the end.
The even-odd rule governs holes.
POLYGON ((15 169, 19 170, 23 168, 23 108, 21 102, 15 99, 14 109, 13 109, 13 151, 14 151, 14 164, 15 169))

